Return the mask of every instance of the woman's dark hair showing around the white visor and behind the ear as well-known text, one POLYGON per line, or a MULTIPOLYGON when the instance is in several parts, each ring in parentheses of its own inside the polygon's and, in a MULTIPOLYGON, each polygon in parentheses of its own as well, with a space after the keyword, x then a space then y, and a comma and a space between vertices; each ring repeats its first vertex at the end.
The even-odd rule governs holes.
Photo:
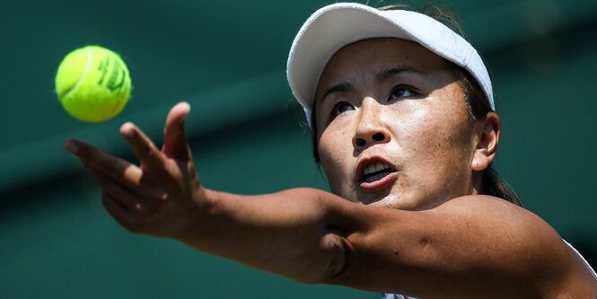
MULTIPOLYGON (((455 31, 461 36, 464 36, 460 22, 458 21, 458 17, 455 13, 452 13, 451 10, 439 7, 437 5, 427 6, 421 10, 412 9, 412 7, 404 4, 391 4, 386 5, 383 7, 378 8, 380 10, 388 10, 388 9, 406 9, 411 11, 417 11, 418 13, 424 13, 435 20, 442 22, 444 25, 448 26, 452 31, 455 31)), ((447 61, 447 60, 446 60, 447 61)), ((485 92, 481 90, 479 87, 477 80, 475 80, 469 72, 467 72, 461 66, 456 66, 455 64, 448 62, 453 75, 458 80, 459 84, 461 84, 462 92, 464 93, 464 100, 466 109, 469 112, 469 119, 471 123, 476 124, 479 120, 484 119, 487 116, 489 111, 493 111, 491 108, 489 101, 485 95, 485 92)), ((313 157, 315 158, 316 163, 320 163, 320 154, 318 151, 318 140, 317 140, 317 119, 315 118, 315 101, 313 101, 312 105, 312 114, 311 114, 311 125, 312 125, 312 151, 313 157)), ((522 203, 514 192, 514 189, 508 185, 505 180, 503 180, 497 171, 493 169, 491 165, 487 167, 483 171, 482 178, 481 178, 481 189, 479 190, 481 194, 494 196, 496 198, 503 198, 509 202, 514 203, 517 206, 522 207, 522 203)))

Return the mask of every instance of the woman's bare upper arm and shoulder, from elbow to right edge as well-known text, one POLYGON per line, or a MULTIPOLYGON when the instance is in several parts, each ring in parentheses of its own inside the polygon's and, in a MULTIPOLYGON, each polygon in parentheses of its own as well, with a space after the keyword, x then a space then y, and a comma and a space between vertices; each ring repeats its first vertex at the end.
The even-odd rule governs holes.
POLYGON ((595 295, 594 279, 558 233, 504 199, 467 196, 426 211, 362 212, 375 220, 347 238, 354 253, 349 280, 356 273, 350 285, 421 297, 595 295), (358 274, 372 264, 375 279, 358 274))

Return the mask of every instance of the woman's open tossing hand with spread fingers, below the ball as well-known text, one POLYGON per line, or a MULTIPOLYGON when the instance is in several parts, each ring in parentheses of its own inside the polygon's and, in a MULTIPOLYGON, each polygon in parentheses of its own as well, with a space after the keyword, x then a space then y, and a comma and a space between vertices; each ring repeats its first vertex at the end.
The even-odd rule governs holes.
POLYGON ((103 206, 129 231, 177 238, 204 198, 185 134, 189 110, 186 102, 172 107, 162 150, 140 128, 122 125, 120 134, 138 166, 81 141, 66 142, 66 151, 75 154, 100 185, 103 206))

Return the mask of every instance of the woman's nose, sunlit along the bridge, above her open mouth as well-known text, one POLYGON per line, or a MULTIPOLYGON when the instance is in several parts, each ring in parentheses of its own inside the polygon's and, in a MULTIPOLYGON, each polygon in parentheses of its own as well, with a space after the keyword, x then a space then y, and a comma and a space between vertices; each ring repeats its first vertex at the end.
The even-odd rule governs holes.
POLYGON ((353 136, 355 150, 360 151, 371 145, 390 142, 391 135, 388 128, 384 126, 382 110, 382 104, 374 99, 363 100, 355 136, 353 136))

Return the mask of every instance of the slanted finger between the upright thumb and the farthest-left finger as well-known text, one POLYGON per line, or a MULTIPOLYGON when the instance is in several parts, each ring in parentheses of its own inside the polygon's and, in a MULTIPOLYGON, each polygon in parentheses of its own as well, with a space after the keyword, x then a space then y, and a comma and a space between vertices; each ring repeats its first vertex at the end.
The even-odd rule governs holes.
POLYGON ((125 137, 133 154, 143 164, 144 169, 158 171, 158 173, 163 170, 162 153, 140 128, 137 128, 133 123, 127 122, 120 127, 120 134, 125 137))

